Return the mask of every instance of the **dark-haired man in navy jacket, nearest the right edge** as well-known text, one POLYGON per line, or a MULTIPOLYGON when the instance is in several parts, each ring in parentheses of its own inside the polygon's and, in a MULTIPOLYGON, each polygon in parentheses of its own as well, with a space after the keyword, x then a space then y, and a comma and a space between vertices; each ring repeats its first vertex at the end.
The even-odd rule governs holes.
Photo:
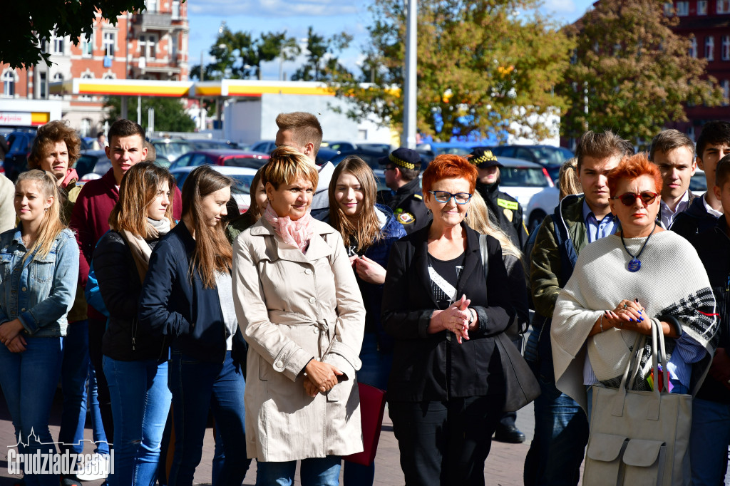
POLYGON ((691 241, 694 235, 718 223, 718 218, 723 215, 723 207, 712 188, 715 187, 715 168, 718 161, 728 154, 730 154, 730 123, 723 121, 706 123, 697 139, 697 166, 704 171, 707 192, 704 196, 695 198, 685 212, 677 215, 672 231, 691 241))

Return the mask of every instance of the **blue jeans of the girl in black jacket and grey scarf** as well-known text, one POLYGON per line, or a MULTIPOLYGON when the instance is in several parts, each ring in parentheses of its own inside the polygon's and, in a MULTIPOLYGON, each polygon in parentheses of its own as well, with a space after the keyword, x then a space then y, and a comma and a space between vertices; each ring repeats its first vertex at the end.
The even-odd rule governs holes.
POLYGON ((104 356, 114 417, 114 474, 110 485, 154 485, 172 396, 167 363, 104 356))

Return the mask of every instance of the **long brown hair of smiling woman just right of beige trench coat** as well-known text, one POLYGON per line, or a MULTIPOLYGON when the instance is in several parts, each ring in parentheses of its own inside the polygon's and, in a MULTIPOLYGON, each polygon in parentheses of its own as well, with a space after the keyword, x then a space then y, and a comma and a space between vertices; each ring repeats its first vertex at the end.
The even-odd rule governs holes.
POLYGON ((364 250, 383 238, 383 231, 380 231, 380 222, 377 219, 377 212, 375 212, 376 196, 375 175, 365 161, 357 155, 350 155, 337 164, 332 179, 329 181, 329 224, 342 235, 345 246, 349 246, 350 239, 354 238, 358 244, 357 250, 364 250), (362 209, 357 215, 356 221, 350 220, 342 212, 342 208, 334 198, 337 181, 339 176, 344 173, 353 174, 356 177, 363 193, 362 209))

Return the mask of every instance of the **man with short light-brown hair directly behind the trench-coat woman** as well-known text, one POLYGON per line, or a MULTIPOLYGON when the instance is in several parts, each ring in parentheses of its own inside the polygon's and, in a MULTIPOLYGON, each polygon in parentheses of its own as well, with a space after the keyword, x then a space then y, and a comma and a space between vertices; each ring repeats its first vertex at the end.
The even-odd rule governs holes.
MULTIPOLYGON (((307 155, 312 163, 316 163, 317 153, 322 144, 322 126, 315 115, 307 112, 280 113, 276 117, 279 131, 276 134, 276 146, 286 145, 307 155)), ((318 166, 319 182, 312 197, 312 216, 329 209, 329 181, 334 172, 331 162, 318 166)))

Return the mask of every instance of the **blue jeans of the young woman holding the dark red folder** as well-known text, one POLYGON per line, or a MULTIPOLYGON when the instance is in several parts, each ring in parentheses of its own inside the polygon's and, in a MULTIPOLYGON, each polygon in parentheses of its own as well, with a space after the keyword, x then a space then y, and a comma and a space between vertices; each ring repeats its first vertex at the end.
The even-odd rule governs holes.
MULTIPOLYGON (((377 349, 377 333, 365 333, 360 360, 362 367, 357 373, 358 382, 385 390, 393 366, 393 353, 380 352, 377 349)), ((346 460, 345 475, 342 479, 346 486, 372 486, 375 480, 375 463, 362 466, 346 460)))

